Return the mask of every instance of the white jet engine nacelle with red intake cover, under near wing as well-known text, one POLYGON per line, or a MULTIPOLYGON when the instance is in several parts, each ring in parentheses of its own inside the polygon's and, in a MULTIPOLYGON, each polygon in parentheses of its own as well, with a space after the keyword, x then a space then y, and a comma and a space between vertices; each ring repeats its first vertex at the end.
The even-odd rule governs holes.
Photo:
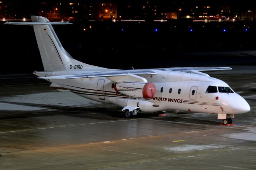
POLYGON ((153 83, 124 81, 114 85, 116 92, 121 94, 148 99, 156 93, 156 86, 153 83))

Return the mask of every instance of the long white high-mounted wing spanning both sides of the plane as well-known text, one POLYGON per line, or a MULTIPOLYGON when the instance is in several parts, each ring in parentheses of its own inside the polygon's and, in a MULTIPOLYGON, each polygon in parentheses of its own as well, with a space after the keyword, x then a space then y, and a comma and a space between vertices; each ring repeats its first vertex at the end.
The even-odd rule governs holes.
POLYGON ((113 76, 125 76, 125 75, 156 75, 157 70, 160 71, 218 71, 229 70, 230 67, 170 67, 159 69, 132 69, 132 70, 117 70, 117 71, 99 71, 94 73, 80 73, 72 75, 57 75, 50 77, 38 77, 40 79, 76 79, 76 78, 91 78, 91 77, 113 77, 113 76))

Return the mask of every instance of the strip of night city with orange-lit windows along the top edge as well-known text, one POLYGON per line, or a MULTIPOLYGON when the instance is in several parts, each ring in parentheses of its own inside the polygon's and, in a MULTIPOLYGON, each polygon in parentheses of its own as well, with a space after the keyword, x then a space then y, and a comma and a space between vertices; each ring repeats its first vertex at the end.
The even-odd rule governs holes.
POLYGON ((254 20, 256 3, 228 0, 0 0, 0 18, 22 20, 39 15, 49 20, 254 20))

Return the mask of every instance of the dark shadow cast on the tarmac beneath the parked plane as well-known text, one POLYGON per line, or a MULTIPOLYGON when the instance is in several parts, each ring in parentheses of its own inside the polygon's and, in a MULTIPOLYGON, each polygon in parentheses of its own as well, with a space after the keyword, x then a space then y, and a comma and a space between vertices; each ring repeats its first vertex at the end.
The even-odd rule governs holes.
MULTIPOLYGON (((161 119, 162 121, 172 121, 179 123, 195 123, 203 125, 219 125, 219 122, 202 120, 202 119, 191 119, 191 118, 181 118, 179 115, 184 115, 188 113, 178 113, 176 116, 158 116, 154 113, 145 113, 139 112, 134 118, 126 118, 124 112, 121 111, 121 108, 115 105, 105 104, 96 104, 90 107, 78 107, 78 106, 61 106, 61 105, 47 105, 47 104, 36 104, 36 103, 20 103, 13 101, 0 101, 1 103, 23 105, 28 107, 39 107, 44 109, 53 109, 53 110, 36 110, 36 111, 18 111, 18 114, 12 114, 14 111, 4 111, 6 115, 0 116, 0 120, 4 119, 18 119, 18 118, 32 118, 32 117, 46 117, 46 116, 56 116, 56 115, 67 115, 72 117, 80 117, 86 119, 98 119, 98 120, 109 120, 115 121, 120 119, 136 119, 136 118, 152 118, 152 119, 161 119), (9 114, 10 113, 10 114, 9 114), (36 114, 35 114, 36 113, 36 114), (90 114, 86 114, 90 113, 90 114)), ((15 112, 17 113, 17 112, 15 112)), ((188 114, 189 115, 189 114, 188 114)))

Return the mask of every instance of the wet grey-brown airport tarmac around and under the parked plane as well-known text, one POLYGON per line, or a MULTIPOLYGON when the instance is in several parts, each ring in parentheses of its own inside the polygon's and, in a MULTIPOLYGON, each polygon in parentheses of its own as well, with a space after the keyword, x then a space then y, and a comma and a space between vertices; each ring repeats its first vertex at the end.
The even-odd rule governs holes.
POLYGON ((217 115, 139 112, 59 92, 32 74, 0 76, 0 169, 256 169, 256 67, 206 72, 251 107, 221 126, 217 115))

